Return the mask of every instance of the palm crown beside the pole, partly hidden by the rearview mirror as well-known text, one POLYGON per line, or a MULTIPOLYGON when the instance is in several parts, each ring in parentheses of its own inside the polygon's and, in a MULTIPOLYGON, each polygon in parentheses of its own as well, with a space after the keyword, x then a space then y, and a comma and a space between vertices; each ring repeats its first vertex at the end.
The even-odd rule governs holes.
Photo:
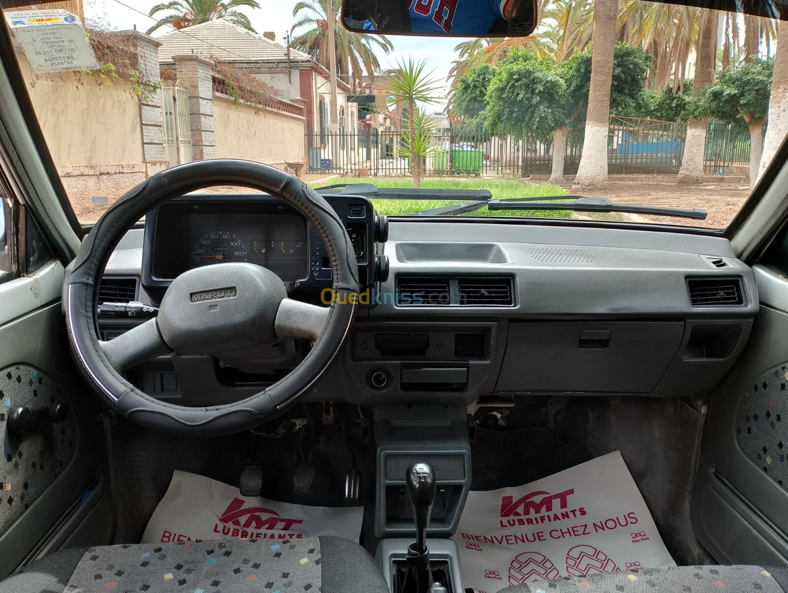
MULTIPOLYGON (((381 64, 375 49, 388 54, 394 49, 392 43, 382 35, 358 35, 348 31, 339 22, 342 0, 332 0, 334 14, 334 44, 336 46, 336 73, 346 82, 348 79, 355 88, 355 81, 362 80, 366 74, 374 79, 381 64)), ((325 17, 326 0, 299 0, 293 7, 293 17, 297 18, 291 32, 307 28, 292 40, 293 47, 311 54, 320 64, 329 67, 329 21, 325 17)))

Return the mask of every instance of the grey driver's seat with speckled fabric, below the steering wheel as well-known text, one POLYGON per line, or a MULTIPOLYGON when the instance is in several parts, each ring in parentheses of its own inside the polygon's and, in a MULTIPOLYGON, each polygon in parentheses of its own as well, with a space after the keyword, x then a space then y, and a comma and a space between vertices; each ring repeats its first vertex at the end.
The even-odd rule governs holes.
POLYGON ((345 539, 223 539, 65 550, 0 583, 0 593, 388 593, 345 539), (83 553, 84 552, 84 553, 83 553))

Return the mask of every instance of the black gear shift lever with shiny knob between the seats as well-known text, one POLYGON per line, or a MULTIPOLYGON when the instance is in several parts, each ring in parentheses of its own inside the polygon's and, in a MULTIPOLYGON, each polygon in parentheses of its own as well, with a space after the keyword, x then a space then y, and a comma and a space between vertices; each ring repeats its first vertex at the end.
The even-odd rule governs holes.
POLYGON ((428 464, 417 463, 407 468, 405 474, 407 495, 413 506, 413 520, 416 525, 416 541, 407 548, 408 576, 405 591, 427 593, 432 584, 429 569, 429 550, 427 548, 427 525, 433 513, 435 502, 435 474, 428 464))

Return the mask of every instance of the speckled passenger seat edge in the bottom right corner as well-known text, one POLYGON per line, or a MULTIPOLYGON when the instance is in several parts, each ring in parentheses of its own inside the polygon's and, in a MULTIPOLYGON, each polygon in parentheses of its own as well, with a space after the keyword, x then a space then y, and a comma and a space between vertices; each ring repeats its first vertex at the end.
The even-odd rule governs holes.
POLYGON ((761 566, 674 566, 539 580, 503 593, 786 593, 786 569, 761 566))

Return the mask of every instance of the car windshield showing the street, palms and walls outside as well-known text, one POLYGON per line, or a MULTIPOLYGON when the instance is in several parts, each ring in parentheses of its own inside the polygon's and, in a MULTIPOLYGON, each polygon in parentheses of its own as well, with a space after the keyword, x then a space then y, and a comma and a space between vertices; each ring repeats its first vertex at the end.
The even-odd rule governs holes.
POLYGON ((788 28, 782 43, 779 21, 765 17, 548 0, 529 37, 438 39, 350 32, 341 6, 79 0, 6 9, 80 222, 167 167, 230 158, 316 188, 425 190, 369 196, 381 214, 416 215, 467 201, 451 190, 486 189, 476 207, 440 214, 724 228, 788 129, 788 81, 779 80, 788 28), (607 200, 589 207, 586 197, 607 200), (487 203, 534 198, 545 200, 487 203), (656 208, 622 206, 633 204, 656 208))

